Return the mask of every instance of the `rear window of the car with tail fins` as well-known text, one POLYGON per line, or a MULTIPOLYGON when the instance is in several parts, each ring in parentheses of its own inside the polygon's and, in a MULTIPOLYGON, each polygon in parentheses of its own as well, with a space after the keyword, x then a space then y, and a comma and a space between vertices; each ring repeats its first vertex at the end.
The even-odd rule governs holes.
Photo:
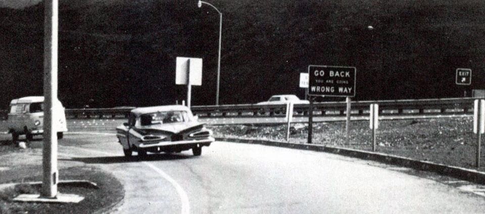
POLYGON ((159 111, 140 115, 141 125, 189 121, 186 111, 159 111))

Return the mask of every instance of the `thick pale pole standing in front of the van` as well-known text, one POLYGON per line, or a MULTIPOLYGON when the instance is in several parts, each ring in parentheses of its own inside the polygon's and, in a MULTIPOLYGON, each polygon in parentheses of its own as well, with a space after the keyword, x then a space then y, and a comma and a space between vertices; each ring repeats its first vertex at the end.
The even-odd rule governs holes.
POLYGON ((45 0, 44 8, 44 124, 42 147, 43 179, 41 196, 57 196, 57 134, 53 129, 57 102, 58 0, 45 0))

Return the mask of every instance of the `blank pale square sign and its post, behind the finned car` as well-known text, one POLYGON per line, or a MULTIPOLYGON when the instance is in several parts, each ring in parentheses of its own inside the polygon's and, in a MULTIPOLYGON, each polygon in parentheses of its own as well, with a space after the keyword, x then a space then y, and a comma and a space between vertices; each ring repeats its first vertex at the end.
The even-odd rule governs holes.
POLYGON ((191 85, 202 85, 202 59, 177 57, 175 84, 187 85, 187 106, 190 108, 191 85))

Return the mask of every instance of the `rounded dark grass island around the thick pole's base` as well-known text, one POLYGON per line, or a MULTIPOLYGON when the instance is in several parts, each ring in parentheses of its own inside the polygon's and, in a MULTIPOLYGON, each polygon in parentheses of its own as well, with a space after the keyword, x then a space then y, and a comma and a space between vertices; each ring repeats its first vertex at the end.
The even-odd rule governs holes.
MULTIPOLYGON (((60 180, 89 180, 98 188, 82 185, 59 184, 58 192, 78 194, 84 198, 79 203, 14 202, 20 194, 39 194, 41 185, 19 184, 0 190, 0 213, 93 213, 107 211, 123 199, 121 183, 111 174, 96 167, 70 167, 60 169, 60 180)), ((41 181, 41 176, 24 181, 41 181)), ((21 181, 13 181, 21 182, 21 181)))

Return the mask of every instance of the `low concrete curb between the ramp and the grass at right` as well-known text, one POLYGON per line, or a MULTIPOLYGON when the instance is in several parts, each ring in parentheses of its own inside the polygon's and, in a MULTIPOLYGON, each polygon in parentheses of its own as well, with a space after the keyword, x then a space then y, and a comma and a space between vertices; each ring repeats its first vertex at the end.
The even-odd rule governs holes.
POLYGON ((465 180, 465 181, 469 181, 477 184, 485 184, 485 173, 479 172, 474 169, 449 166, 449 165, 444 165, 439 163, 433 163, 430 161, 414 160, 414 159, 395 156, 395 155, 370 152, 370 151, 362 151, 362 150, 356 150, 356 149, 315 145, 315 144, 295 144, 295 143, 285 143, 285 142, 279 142, 279 141, 251 140, 251 139, 237 139, 237 138, 215 138, 215 139, 216 141, 261 144, 266 146, 277 146, 277 147, 292 148, 292 149, 328 152, 333 154, 356 157, 356 158, 365 159, 365 160, 374 160, 382 163, 400 165, 400 166, 405 166, 405 167, 418 169, 418 170, 426 170, 429 172, 438 173, 440 175, 449 176, 460 180, 465 180))

